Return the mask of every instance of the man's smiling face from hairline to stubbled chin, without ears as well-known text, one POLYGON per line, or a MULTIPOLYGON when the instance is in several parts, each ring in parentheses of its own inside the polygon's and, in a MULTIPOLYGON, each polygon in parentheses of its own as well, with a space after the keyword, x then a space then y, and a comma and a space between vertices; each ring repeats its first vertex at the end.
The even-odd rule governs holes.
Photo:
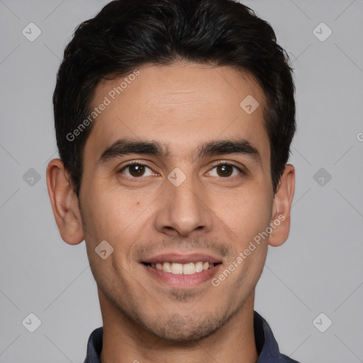
POLYGON ((101 310, 195 340, 250 301, 262 272, 268 238, 244 251, 273 218, 265 98, 230 67, 138 72, 120 94, 123 79, 96 87, 92 106, 110 102, 84 148, 84 239, 101 310), (252 113, 240 106, 248 95, 259 103, 252 113), (106 259, 95 252, 104 240, 106 259))

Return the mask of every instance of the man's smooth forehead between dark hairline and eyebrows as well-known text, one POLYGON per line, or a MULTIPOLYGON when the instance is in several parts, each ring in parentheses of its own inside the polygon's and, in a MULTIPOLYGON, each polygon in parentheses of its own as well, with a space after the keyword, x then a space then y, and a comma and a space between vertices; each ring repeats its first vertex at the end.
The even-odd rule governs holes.
POLYGON ((96 86, 91 109, 99 110, 84 155, 95 160, 116 140, 133 138, 157 140, 181 157, 201 143, 238 137, 269 160, 265 104, 255 79, 232 67, 145 65, 96 86))

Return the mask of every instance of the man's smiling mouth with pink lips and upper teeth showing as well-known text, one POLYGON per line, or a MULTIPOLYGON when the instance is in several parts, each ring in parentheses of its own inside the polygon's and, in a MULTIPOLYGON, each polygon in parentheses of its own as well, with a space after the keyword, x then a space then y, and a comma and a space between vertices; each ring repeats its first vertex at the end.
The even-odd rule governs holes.
POLYGON ((146 272, 169 286, 203 284, 218 272, 222 261, 207 255, 160 255, 141 262, 146 272))

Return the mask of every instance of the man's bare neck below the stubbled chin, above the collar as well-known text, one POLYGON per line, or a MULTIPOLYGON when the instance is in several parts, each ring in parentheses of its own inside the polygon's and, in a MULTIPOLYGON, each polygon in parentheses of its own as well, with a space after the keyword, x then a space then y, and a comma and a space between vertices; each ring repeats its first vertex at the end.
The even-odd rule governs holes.
POLYGON ((255 363, 258 354, 253 330, 255 294, 225 325, 196 342, 162 340, 122 315, 99 290, 104 321, 102 363, 255 363))

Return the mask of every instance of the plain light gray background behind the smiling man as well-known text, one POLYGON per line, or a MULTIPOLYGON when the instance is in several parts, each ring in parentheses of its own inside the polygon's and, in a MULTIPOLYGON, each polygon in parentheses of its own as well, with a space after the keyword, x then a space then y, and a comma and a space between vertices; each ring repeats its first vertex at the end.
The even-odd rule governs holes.
MULTIPOLYGON (((84 242, 62 242, 45 169, 57 157, 52 91, 62 52, 106 2, 0 0, 3 363, 83 362, 102 324, 84 242), (30 22, 42 31, 33 42, 22 34, 30 22), (29 313, 41 320, 34 333, 22 325, 29 313)), ((243 2, 274 27, 297 89, 291 234, 269 249, 255 308, 292 358, 363 362, 363 1, 243 2), (325 41, 313 33, 322 22, 333 31, 325 41), (328 318, 313 324, 320 313, 333 321, 325 333, 315 326, 328 318)), ((322 39, 328 28, 316 32, 322 39)))

